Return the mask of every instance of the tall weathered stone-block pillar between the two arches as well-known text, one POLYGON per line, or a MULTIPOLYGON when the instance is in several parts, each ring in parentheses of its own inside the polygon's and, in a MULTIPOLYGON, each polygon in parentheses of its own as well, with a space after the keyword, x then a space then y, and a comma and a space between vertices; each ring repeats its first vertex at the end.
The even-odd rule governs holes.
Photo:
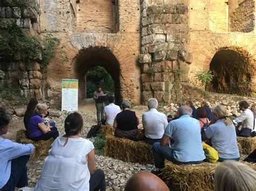
POLYGON ((178 100, 192 62, 188 5, 143 1, 142 8, 143 103, 151 97, 166 103, 178 100))

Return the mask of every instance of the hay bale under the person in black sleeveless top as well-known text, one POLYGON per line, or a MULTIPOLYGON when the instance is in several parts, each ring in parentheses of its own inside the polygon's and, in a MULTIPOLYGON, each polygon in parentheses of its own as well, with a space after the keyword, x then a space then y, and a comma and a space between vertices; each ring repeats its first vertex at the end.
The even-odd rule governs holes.
POLYGON ((126 162, 153 164, 152 145, 112 135, 106 136, 105 155, 126 162))

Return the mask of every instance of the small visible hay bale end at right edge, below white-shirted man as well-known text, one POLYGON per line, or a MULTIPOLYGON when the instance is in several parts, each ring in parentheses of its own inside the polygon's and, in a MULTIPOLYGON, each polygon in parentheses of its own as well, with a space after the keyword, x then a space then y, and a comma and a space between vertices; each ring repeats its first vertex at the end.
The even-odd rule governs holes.
POLYGON ((240 154, 250 154, 256 149, 256 137, 237 137, 240 154))

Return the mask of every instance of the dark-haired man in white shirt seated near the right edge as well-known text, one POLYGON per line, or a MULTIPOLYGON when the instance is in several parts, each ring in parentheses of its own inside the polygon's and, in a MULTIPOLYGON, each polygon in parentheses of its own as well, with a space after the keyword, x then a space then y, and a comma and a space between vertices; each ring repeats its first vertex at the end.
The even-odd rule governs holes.
POLYGON ((246 101, 239 102, 239 110, 241 110, 242 113, 233 121, 237 124, 237 136, 240 137, 250 137, 251 131, 253 130, 254 114, 248 107, 249 104, 246 101))

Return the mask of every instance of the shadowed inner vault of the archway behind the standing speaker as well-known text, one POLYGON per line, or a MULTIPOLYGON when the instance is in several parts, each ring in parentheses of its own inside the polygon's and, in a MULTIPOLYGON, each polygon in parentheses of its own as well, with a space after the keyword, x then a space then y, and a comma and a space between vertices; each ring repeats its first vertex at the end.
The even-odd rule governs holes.
MULTIPOLYGON (((78 102, 84 103, 86 99, 85 75, 95 66, 102 66, 111 75, 114 81, 114 98, 121 104, 120 94, 120 67, 116 57, 106 48, 87 48, 79 52, 73 63, 73 78, 78 79, 78 102)), ((104 91, 104 90, 103 90, 104 91)))

